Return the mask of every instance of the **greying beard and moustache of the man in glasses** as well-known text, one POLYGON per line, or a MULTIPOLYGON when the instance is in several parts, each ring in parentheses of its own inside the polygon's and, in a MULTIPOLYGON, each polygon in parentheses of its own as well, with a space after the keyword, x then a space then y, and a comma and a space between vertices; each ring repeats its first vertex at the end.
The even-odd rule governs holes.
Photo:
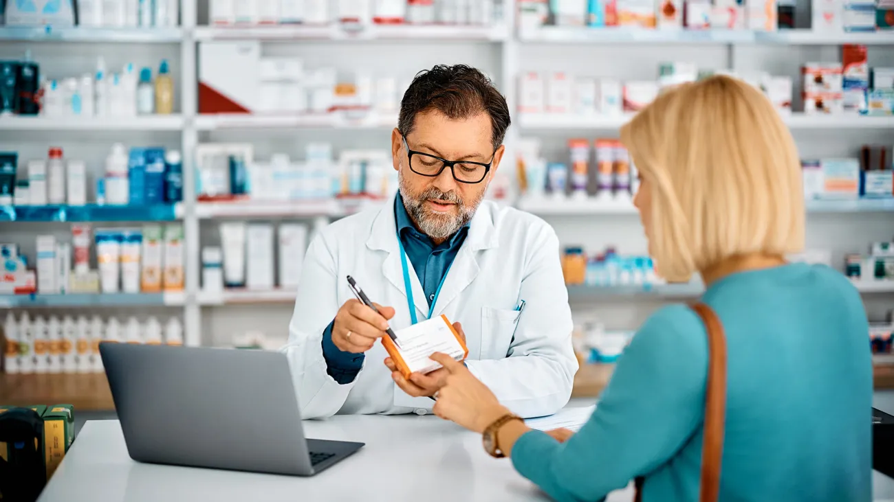
POLYGON ((438 188, 430 187, 418 196, 414 196, 409 192, 402 170, 398 172, 398 180, 403 205, 407 209, 407 213, 419 226, 419 230, 422 230, 429 238, 448 238, 470 222, 487 191, 485 188, 477 200, 472 201, 471 205, 466 205, 462 197, 453 190, 442 192, 438 188), (426 207, 426 200, 456 204, 459 212, 457 214, 435 213, 426 207))

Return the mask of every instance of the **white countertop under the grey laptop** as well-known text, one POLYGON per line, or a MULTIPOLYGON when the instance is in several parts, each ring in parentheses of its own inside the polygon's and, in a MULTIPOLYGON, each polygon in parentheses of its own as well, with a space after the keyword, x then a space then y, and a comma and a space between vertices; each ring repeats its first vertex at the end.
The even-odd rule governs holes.
MULTIPOLYGON (((127 454, 118 421, 93 421, 38 502, 548 500, 508 459, 487 456, 478 434, 433 415, 336 416, 304 426, 309 438, 367 446, 309 478, 139 464, 127 454)), ((890 498, 889 478, 873 473, 873 485, 877 501, 890 498)), ((628 488, 612 493, 609 502, 632 498, 628 488)))

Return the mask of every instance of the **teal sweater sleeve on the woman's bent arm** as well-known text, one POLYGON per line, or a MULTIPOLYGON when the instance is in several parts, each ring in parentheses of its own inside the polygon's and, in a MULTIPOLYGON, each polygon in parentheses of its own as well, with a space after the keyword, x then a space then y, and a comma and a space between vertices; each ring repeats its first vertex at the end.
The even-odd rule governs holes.
POLYGON ((663 308, 637 331, 580 431, 563 444, 529 431, 512 463, 560 502, 598 500, 654 471, 701 426, 707 351, 694 312, 663 308))

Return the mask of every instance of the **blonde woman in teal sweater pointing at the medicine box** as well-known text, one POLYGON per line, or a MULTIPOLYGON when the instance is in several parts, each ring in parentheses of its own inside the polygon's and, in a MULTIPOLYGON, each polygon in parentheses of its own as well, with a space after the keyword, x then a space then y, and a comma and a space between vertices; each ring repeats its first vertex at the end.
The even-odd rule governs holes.
MULTIPOLYGON (((698 273, 725 331, 719 497, 709 498, 869 501, 864 306, 839 272, 783 257, 804 244, 805 209, 779 115, 755 88, 714 77, 659 96, 621 140, 642 178, 634 202, 658 272, 698 273)), ((575 434, 527 429, 461 364, 433 357, 451 372, 434 413, 485 432, 492 453, 552 498, 598 500, 643 477, 645 502, 698 499, 709 347, 687 305, 637 331, 575 434)))

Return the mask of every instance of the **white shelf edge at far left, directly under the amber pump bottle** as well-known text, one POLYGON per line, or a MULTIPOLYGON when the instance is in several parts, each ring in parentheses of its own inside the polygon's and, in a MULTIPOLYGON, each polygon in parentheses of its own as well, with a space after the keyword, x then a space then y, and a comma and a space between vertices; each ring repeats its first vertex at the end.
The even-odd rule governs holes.
POLYGON ((181 115, 141 115, 136 117, 46 117, 13 115, 0 117, 0 130, 171 130, 180 131, 181 115))

